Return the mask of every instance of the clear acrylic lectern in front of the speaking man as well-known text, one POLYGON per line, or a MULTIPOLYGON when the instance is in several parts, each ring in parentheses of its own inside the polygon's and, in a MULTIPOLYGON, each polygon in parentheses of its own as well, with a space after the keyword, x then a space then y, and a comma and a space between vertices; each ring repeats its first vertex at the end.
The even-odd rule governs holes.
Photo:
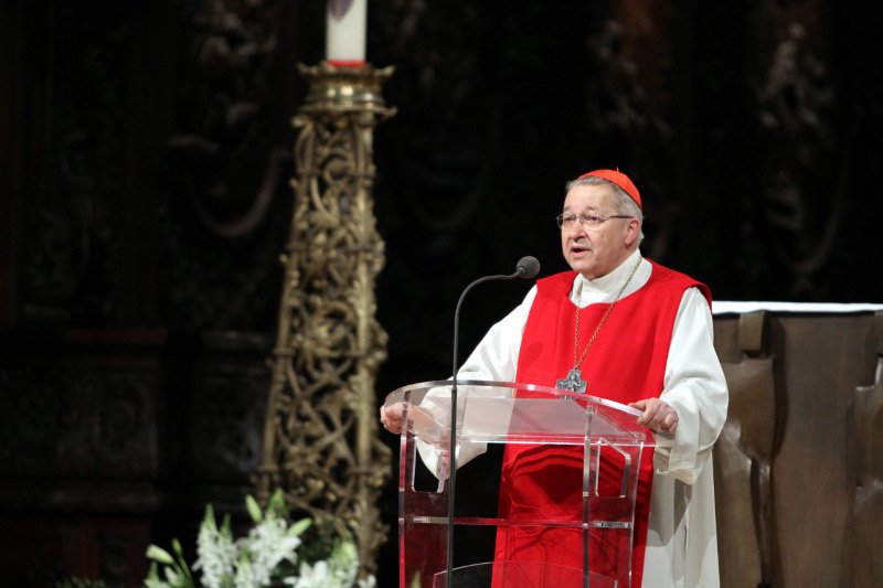
MULTIPOLYGON (((531 521, 501 518, 496 511, 458 513, 449 524, 446 468, 450 463, 450 381, 425 382, 392 392, 384 403, 384 406, 405 403, 407 424, 402 430, 400 449, 400 588, 627 588, 631 576, 638 470, 642 457, 652 459, 653 448, 649 429, 637 425, 640 413, 610 400, 556 388, 458 381, 455 439, 458 464, 483 452, 488 443, 582 448, 582 480, 577 482, 582 488, 574 491, 579 492, 583 504, 566 516, 531 521), (427 458, 424 461, 438 478, 432 478, 435 485, 425 489, 415 485, 419 455, 427 458), (616 459, 602 459, 603 456, 616 459), (610 468, 615 471, 602 471, 610 468), (616 490, 611 492, 607 483, 606 490, 600 491, 600 477, 607 481, 614 479, 616 490), (498 530, 513 525, 571 528, 579 533, 586 553, 583 565, 506 562, 493 557, 478 563, 460 562, 455 548, 451 577, 447 578, 449 530, 457 544, 492 544, 498 530), (606 552, 602 573, 588 564, 593 560, 588 552, 598 545, 606 552)), ((457 480, 454 500, 459 505, 459 474, 457 480)))

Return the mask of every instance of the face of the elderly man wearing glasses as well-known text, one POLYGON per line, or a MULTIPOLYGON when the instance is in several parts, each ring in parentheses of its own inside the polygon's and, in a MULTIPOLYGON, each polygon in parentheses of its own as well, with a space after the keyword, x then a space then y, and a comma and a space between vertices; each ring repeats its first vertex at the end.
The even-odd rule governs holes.
MULTIPOLYGON (((608 217, 618 214, 616 196, 606 185, 577 185, 564 199, 565 215, 608 217)), ((609 218, 596 227, 578 220, 561 229, 561 248, 567 264, 588 279, 606 276, 632 252, 639 235, 638 220, 609 218)))

